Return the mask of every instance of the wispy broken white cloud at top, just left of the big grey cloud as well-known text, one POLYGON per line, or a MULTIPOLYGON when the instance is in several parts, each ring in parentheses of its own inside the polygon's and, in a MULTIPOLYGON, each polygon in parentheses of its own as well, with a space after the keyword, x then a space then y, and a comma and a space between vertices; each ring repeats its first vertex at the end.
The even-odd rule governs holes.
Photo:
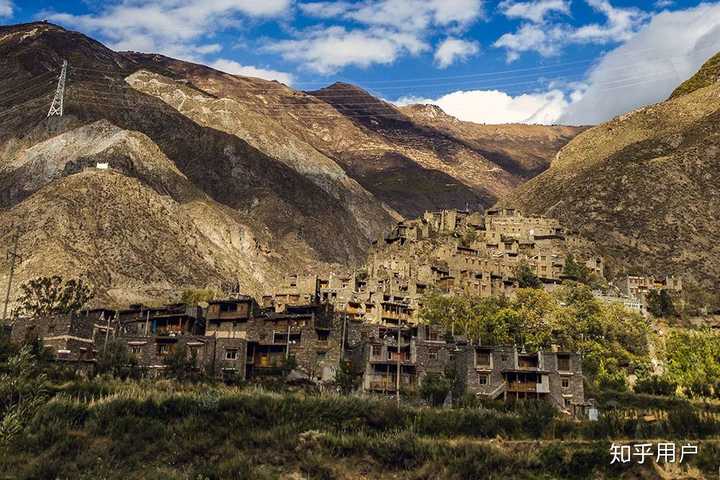
POLYGON ((530 10, 528 7, 522 13, 526 14, 527 18, 532 16, 539 19, 532 19, 539 23, 523 24, 516 32, 502 35, 493 46, 506 50, 508 62, 517 60, 524 52, 537 52, 543 57, 550 57, 558 55, 565 46, 572 43, 624 42, 629 40, 648 18, 646 13, 637 8, 617 8, 608 0, 585 1, 606 17, 605 23, 581 27, 568 24, 551 25, 545 21, 546 12, 541 9, 530 10))

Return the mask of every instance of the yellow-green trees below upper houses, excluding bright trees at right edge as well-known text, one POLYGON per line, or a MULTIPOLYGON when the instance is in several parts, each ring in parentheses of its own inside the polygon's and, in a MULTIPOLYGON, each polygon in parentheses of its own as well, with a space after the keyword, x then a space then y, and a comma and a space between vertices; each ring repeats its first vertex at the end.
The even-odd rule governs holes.
POLYGON ((598 302, 590 288, 523 288, 514 298, 430 294, 422 314, 448 332, 483 345, 583 355, 583 372, 599 388, 626 388, 628 371, 649 361, 650 324, 619 304, 598 302))

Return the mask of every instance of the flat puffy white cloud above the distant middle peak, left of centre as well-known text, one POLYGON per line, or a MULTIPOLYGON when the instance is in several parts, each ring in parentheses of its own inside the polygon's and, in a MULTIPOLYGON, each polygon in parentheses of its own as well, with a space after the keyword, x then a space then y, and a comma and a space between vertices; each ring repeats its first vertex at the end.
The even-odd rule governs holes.
POLYGON ((305 31, 294 40, 269 44, 266 50, 321 74, 331 74, 348 65, 366 68, 393 63, 400 55, 417 55, 428 45, 415 35, 386 28, 346 30, 329 27, 305 31))

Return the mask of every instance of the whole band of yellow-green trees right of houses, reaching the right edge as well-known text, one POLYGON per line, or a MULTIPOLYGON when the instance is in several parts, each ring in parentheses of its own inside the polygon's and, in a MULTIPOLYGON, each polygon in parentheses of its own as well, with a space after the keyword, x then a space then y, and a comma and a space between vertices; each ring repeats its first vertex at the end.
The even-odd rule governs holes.
POLYGON ((581 283, 553 292, 521 288, 512 299, 431 293, 421 315, 476 344, 580 352, 593 395, 627 391, 632 376, 638 393, 720 398, 720 334, 671 328, 659 337, 648 319, 598 301, 581 283), (661 368, 653 366, 651 345, 661 368))

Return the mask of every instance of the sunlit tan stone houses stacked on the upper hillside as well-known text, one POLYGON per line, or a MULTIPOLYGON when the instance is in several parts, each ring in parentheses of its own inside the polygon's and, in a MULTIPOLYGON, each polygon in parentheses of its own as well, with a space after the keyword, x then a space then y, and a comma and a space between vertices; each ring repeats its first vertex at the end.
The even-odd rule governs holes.
MULTIPOLYGON (((443 294, 511 296, 517 268, 526 264, 544 288, 568 278, 566 234, 557 220, 514 209, 442 210, 403 220, 376 241, 365 268, 346 274, 291 275, 263 297, 265 305, 309 302, 316 294, 352 318, 397 325, 417 323, 422 301, 443 294)), ((599 277, 600 257, 585 265, 599 277)))

